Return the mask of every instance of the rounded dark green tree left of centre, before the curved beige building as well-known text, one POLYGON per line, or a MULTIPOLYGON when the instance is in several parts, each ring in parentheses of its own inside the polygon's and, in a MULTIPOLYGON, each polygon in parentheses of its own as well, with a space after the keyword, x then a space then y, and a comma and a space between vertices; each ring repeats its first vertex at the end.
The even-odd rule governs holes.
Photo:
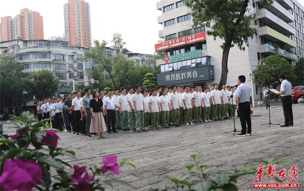
POLYGON ((59 79, 51 70, 43 69, 32 72, 24 78, 24 88, 39 100, 49 98, 58 91, 59 79))

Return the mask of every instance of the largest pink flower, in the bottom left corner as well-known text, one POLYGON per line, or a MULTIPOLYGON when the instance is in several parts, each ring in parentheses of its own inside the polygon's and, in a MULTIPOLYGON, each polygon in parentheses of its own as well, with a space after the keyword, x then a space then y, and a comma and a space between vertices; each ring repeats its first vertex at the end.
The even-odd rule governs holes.
POLYGON ((33 161, 6 159, 0 176, 2 190, 31 190, 42 183, 41 166, 33 161))

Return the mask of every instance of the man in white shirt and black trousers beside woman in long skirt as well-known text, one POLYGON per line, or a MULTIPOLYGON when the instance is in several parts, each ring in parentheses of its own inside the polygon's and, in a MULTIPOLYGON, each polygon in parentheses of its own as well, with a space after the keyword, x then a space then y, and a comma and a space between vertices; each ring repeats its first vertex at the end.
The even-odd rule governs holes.
POLYGON ((106 121, 107 121, 107 131, 108 133, 118 133, 116 130, 116 101, 112 98, 112 90, 107 91, 108 97, 104 100, 104 110, 106 115, 106 121))

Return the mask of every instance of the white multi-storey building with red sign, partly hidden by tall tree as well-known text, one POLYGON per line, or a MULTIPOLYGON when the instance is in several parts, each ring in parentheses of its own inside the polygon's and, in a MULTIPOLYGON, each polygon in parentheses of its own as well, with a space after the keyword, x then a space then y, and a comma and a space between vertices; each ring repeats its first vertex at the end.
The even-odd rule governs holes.
MULTIPOLYGON (((292 0, 296 1, 296 0, 292 0)), ((249 38, 249 46, 241 51, 234 46, 228 59, 227 84, 235 85, 239 75, 246 76, 255 100, 259 100, 259 85, 251 80, 252 71, 260 59, 269 55, 284 57, 289 63, 297 61, 293 53, 297 43, 293 38, 302 30, 293 27, 294 16, 291 14, 291 0, 277 0, 265 7, 263 0, 250 0, 248 9, 259 12, 255 19, 257 35, 249 38)), ((295 7, 295 6, 294 6, 295 7)), ((193 28, 192 15, 181 0, 161 0, 157 3, 161 11, 158 23, 163 25, 159 37, 163 42, 155 44, 155 51, 164 53, 164 58, 156 61, 161 72, 157 75, 158 85, 194 85, 218 83, 221 77, 222 39, 207 35, 208 28, 193 28)), ((302 12, 297 10, 298 22, 303 22, 302 12)), ((302 24, 300 26, 303 26, 302 24)), ((298 41, 299 43, 300 41, 298 41)))

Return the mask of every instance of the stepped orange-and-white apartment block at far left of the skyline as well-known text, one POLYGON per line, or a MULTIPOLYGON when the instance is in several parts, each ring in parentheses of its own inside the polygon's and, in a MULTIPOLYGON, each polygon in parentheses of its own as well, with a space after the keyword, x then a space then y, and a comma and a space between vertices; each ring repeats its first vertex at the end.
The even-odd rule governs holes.
POLYGON ((44 39, 43 17, 40 13, 22 9, 15 18, 1 18, 1 41, 18 37, 24 40, 44 39))

